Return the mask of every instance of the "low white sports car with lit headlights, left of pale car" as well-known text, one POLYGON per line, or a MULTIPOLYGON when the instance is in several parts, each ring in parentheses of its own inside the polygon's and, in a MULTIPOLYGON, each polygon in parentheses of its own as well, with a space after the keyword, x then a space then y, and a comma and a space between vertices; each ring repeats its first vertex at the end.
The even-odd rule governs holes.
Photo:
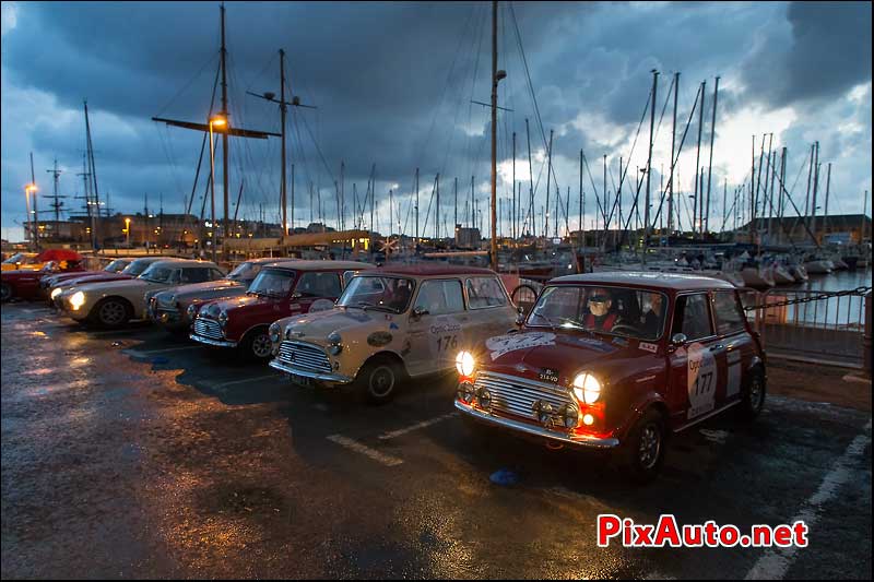
POLYGON ((137 278, 83 283, 56 298, 61 310, 73 320, 93 322, 104 328, 119 328, 128 321, 145 318, 145 297, 186 283, 213 281, 224 272, 210 261, 164 259, 153 262, 137 278))

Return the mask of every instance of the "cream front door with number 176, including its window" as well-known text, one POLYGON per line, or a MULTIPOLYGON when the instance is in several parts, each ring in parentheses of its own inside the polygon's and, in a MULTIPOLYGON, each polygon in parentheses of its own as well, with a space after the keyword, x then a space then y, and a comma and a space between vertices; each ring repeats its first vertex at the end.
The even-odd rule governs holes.
POLYGON ((458 351, 468 345, 464 325, 468 317, 460 280, 432 278, 420 283, 409 316, 410 353, 405 358, 411 376, 454 366, 458 351))

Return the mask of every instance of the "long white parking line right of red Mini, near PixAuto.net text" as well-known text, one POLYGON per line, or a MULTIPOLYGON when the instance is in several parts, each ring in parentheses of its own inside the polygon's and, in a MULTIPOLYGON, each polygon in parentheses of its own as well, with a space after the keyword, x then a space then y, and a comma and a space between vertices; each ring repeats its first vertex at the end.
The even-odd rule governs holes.
MULTIPOLYGON (((807 530, 813 530, 813 525, 819 519, 820 507, 835 497, 840 489, 841 485, 850 479, 849 464, 858 459, 865 447, 871 442, 871 420, 867 421, 863 432, 858 435, 852 442, 847 447, 843 455, 835 462, 825 477, 819 488, 813 496, 804 503, 801 511, 790 520, 791 523, 803 521, 807 530)), ((755 566, 746 574, 745 580, 780 580, 782 579, 792 561, 795 559, 798 551, 796 546, 789 548, 780 548, 779 550, 767 549, 755 566)))

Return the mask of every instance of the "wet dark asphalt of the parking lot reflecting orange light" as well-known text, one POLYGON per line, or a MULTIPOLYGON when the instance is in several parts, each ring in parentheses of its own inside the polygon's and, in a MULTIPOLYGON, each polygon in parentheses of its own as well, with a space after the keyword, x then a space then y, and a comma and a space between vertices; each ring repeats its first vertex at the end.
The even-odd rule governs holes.
POLYGON ((471 435, 453 390, 370 407, 147 325, 3 306, 2 577, 871 577, 869 413, 770 397, 753 425, 677 436, 638 487, 598 456, 471 435), (599 548, 599 513, 813 524, 768 558, 599 548))

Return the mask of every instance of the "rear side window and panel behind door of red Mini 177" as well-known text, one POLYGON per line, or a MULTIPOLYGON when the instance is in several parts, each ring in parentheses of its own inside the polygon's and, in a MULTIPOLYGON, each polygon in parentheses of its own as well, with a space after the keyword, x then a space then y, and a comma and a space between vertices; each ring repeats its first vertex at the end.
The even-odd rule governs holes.
POLYGON ((746 316, 734 289, 713 292, 712 305, 718 341, 711 352, 720 366, 720 388, 728 403, 741 397, 743 370, 749 368, 756 347, 746 331, 746 316))

